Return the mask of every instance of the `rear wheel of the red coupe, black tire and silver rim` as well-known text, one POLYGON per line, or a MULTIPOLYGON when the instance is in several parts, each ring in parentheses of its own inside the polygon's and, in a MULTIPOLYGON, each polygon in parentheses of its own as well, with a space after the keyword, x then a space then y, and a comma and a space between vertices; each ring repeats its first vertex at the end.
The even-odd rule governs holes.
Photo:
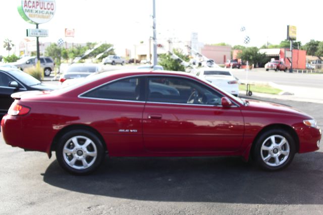
POLYGON ((99 167, 99 165, 102 163, 104 158, 103 143, 94 133, 90 131, 81 130, 81 129, 72 130, 67 132, 60 138, 58 145, 56 147, 56 158, 60 166, 67 172, 75 175, 86 175, 96 170, 99 167), (83 141, 83 144, 79 145, 79 148, 76 148, 77 146, 73 144, 74 141, 72 140, 72 138, 76 138, 78 143, 82 143, 83 141), (87 147, 85 147, 86 148, 86 151, 85 151, 82 148, 82 146, 86 143, 87 139, 89 139, 91 143, 87 147), (74 150, 75 153, 64 152, 65 146, 69 150, 74 150), (82 151, 82 154, 79 154, 78 153, 79 151, 82 151), (96 157, 94 157, 93 155, 86 154, 86 152, 90 154, 90 153, 95 153, 95 151, 96 151, 96 157), (75 165, 73 166, 75 167, 72 167, 71 163, 74 158, 76 161, 74 162, 75 165), (88 167, 84 168, 84 163, 82 162, 82 159, 86 160, 86 164, 89 165, 88 167), (71 163, 69 164, 68 161, 71 163))

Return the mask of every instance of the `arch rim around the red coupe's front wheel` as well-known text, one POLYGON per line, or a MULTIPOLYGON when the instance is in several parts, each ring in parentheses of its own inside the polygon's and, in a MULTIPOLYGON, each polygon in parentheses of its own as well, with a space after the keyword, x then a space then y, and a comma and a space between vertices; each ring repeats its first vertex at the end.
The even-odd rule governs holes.
POLYGON ((296 149, 296 152, 299 151, 299 138, 297 136, 297 133, 296 131, 289 125, 286 125, 286 124, 271 124, 271 125, 267 125, 265 127, 263 127, 259 132, 258 134, 255 136, 255 138, 253 139, 252 141, 252 145, 251 145, 251 149, 249 151, 249 157, 250 155, 252 155, 252 151, 254 150, 254 147, 255 147, 255 143, 256 141, 259 139, 259 137, 264 133, 264 132, 267 132, 269 130, 273 130, 273 129, 281 129, 281 130, 284 130, 284 131, 287 131, 291 136, 292 138, 294 139, 295 141, 295 149, 296 149))

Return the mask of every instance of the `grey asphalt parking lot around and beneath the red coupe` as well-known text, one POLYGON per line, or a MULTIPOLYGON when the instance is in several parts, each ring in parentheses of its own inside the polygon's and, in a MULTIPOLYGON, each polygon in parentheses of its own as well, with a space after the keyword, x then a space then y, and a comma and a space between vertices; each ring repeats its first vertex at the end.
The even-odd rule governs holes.
MULTIPOLYGON (((323 127, 322 104, 267 99, 323 127)), ((321 140, 322 141, 322 140, 321 140)), ((264 172, 235 157, 107 158, 89 176, 0 138, 0 214, 322 214, 323 150, 264 172)))

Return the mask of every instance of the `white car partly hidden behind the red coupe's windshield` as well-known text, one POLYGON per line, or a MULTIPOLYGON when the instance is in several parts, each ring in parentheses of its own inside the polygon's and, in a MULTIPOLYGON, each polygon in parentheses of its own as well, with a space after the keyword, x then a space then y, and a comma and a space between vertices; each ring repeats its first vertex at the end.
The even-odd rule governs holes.
POLYGON ((197 73, 201 79, 211 82, 214 86, 223 89, 235 96, 239 95, 238 79, 224 68, 201 68, 197 73))

